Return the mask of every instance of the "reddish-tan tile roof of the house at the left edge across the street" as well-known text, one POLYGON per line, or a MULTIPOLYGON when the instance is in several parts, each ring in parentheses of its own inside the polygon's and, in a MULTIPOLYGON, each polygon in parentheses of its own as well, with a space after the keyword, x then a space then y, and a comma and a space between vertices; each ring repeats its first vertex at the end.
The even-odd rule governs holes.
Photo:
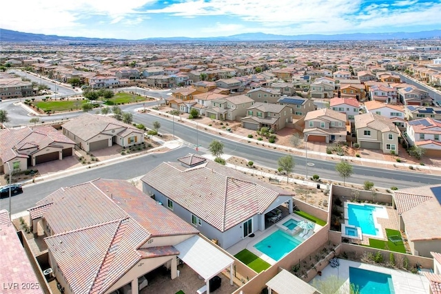
POLYGON ((36 148, 31 154, 46 147, 62 148, 59 143, 75 144, 70 138, 53 127, 24 127, 22 129, 0 130, 0 158, 3 162, 13 158, 28 158, 24 150, 36 148))

